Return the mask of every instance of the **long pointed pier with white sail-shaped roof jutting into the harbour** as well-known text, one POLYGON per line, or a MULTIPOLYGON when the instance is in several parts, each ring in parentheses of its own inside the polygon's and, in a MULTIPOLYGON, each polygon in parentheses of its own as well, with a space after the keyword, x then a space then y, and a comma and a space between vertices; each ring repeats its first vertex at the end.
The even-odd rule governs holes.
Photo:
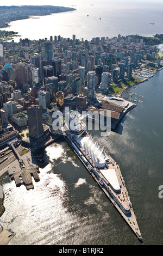
POLYGON ((75 111, 68 113, 69 123, 65 126, 65 139, 74 153, 84 164, 97 184, 102 188, 111 203, 142 241, 133 206, 121 174, 120 167, 102 148, 101 144, 87 133, 86 124, 75 111), (70 123, 72 124, 70 125, 70 123))

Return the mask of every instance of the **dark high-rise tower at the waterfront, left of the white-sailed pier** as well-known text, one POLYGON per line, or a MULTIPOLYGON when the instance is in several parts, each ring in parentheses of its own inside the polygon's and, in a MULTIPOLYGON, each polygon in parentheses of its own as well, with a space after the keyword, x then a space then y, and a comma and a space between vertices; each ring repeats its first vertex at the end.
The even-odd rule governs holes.
POLYGON ((42 109, 38 105, 27 108, 29 138, 39 139, 43 136, 42 109))

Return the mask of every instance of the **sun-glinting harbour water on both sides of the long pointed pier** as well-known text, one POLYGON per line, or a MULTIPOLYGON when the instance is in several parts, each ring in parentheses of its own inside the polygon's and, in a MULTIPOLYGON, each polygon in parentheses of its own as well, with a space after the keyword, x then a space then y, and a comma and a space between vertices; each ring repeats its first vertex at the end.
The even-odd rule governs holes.
MULTIPOLYGON (((137 86, 143 103, 109 137, 93 132, 120 166, 145 245, 161 245, 163 238, 162 79, 160 71, 137 86)), ((9 245, 140 244, 66 142, 46 152, 49 164, 34 190, 3 181, 6 210, 0 224, 16 233, 9 245)))

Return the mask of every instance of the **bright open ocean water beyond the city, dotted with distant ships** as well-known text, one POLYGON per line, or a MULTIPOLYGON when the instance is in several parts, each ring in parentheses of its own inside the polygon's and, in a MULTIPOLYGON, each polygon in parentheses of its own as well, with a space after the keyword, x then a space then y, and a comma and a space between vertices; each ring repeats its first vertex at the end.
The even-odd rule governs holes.
MULTIPOLYGON (((28 4, 38 5, 37 1, 28 2, 28 4)), ((16 4, 21 5, 22 2, 17 0, 16 4)), ((48 1, 47 4, 73 7, 76 10, 40 16, 40 19, 13 21, 10 22, 10 27, 2 28, 2 30, 18 32, 21 37, 15 37, 15 41, 19 41, 20 38, 39 40, 49 38, 51 35, 72 38, 75 34, 77 39, 91 40, 97 36, 111 38, 118 34, 152 36, 156 33, 163 33, 163 3, 161 1, 61 0, 59 2, 48 1)), ((13 2, 6 3, 2 0, 1 5, 13 5, 13 2)))

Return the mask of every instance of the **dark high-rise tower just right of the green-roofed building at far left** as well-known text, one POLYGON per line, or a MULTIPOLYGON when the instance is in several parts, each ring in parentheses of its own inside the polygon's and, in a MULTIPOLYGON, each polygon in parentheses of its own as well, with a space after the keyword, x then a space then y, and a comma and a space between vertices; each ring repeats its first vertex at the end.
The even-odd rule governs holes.
POLYGON ((18 89, 21 89, 24 84, 27 84, 27 71, 23 63, 15 64, 15 80, 18 89))

